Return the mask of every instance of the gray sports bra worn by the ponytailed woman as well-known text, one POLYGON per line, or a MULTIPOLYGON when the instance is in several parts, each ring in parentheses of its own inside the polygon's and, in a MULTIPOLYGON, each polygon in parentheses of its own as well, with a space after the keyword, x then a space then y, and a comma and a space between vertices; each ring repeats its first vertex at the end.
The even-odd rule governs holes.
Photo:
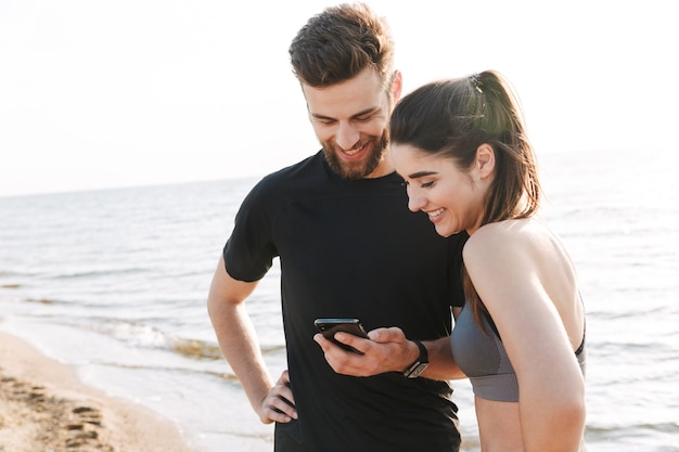
MULTIPOLYGON (((471 309, 462 309, 450 335, 450 345, 456 363, 470 378, 474 395, 482 399, 501 402, 518 401, 516 373, 507 356, 497 328, 489 315, 483 315, 482 332, 471 309)), ((575 352, 585 375, 587 348, 585 335, 575 352)))

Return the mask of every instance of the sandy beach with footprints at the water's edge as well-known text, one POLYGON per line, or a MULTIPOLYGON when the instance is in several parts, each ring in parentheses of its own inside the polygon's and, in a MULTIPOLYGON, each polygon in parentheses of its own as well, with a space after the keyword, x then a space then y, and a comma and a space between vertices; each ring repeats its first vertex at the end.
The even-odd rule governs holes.
POLYGON ((0 452, 196 452, 179 428, 0 333, 0 452))

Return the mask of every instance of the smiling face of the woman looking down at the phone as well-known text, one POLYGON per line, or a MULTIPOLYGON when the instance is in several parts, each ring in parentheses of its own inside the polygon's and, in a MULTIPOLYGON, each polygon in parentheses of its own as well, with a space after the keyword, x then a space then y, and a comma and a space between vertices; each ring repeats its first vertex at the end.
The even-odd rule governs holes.
POLYGON ((389 156, 406 181, 408 208, 425 212, 439 235, 478 229, 487 181, 478 177, 475 165, 465 172, 449 157, 400 143, 390 145, 389 156))

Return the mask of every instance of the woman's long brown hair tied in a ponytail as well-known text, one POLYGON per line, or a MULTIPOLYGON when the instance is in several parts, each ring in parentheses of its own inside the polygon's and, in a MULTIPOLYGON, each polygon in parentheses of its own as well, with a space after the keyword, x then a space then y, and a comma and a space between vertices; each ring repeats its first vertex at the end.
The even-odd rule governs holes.
MULTIPOLYGON (((452 159, 469 171, 476 150, 489 144, 495 178, 484 199, 482 224, 533 216, 541 197, 535 153, 518 98, 495 70, 424 85, 403 96, 390 119, 392 143, 452 159)), ((485 307, 466 271, 466 301, 481 324, 485 307)))

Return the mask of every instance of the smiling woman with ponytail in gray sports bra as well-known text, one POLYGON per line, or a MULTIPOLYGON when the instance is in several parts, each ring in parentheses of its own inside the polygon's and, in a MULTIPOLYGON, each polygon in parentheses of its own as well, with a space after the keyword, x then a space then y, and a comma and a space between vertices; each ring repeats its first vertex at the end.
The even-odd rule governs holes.
POLYGON ((509 83, 488 70, 425 85, 397 104, 390 135, 410 210, 470 235, 451 350, 482 450, 584 451, 585 310, 573 262, 536 219, 538 169, 509 83))

